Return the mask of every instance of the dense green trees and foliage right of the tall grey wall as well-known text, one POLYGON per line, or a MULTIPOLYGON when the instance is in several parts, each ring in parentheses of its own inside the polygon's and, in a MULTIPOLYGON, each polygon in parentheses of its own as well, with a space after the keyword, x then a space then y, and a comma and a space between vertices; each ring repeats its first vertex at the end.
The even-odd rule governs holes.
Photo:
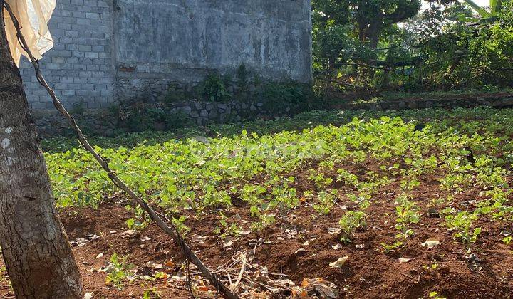
POLYGON ((419 11, 414 1, 314 1, 316 82, 358 93, 511 88, 512 1, 489 11, 442 2, 419 11), (362 35, 373 26, 379 34, 362 35))

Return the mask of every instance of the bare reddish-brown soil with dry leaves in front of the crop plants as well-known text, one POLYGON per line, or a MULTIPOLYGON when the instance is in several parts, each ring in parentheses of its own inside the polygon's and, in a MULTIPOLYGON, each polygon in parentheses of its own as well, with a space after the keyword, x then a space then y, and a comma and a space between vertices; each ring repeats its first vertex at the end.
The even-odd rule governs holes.
MULTIPOLYGON (((310 167, 316 167, 316 164, 310 167)), ((339 167, 360 174, 361 169, 379 172, 377 167, 368 164, 346 164, 339 167)), ((335 172, 325 173, 335 177, 335 172)), ((306 190, 316 189, 306 179, 306 171, 298 170, 291 174, 296 177, 291 187, 295 187, 300 196, 306 190)), ((276 216, 276 222, 261 233, 241 236, 234 241, 234 246, 228 248, 224 248, 219 237, 212 233, 212 228, 219 225, 217 213, 202 212, 199 216, 190 214, 187 226, 193 228, 190 235, 207 237, 204 243, 191 243, 210 268, 223 265, 242 249, 253 251, 254 240, 264 238, 266 242, 257 246, 255 251, 255 263, 267 266, 271 273, 286 274, 296 284, 301 283, 303 278, 329 280, 338 285, 341 298, 427 298, 433 291, 445 298, 511 298, 513 244, 504 244, 500 234, 507 227, 500 221, 488 221, 484 217, 480 219, 477 225, 482 227, 482 233, 472 245, 472 252, 480 258, 482 270, 472 270, 467 263, 464 246, 452 238, 442 225, 442 219, 427 216, 430 200, 447 195, 440 191, 438 179, 440 177, 435 174, 420 177, 420 187, 412 192, 413 200, 422 209, 420 224, 411 226, 415 234, 403 248, 393 253, 383 252, 380 243, 395 241, 397 230, 394 228, 393 201, 399 189, 398 182, 383 187, 373 197, 373 204, 367 210, 367 229, 358 231, 353 243, 343 245, 340 249, 332 248, 338 243, 338 236, 328 234, 328 228, 336 227, 338 219, 344 214, 345 210, 341 206, 351 209, 351 204, 343 198, 327 216, 314 216, 316 212, 305 201, 297 209, 281 212, 276 216), (440 246, 421 246, 427 238, 436 238, 440 246), (305 245, 306 241, 309 241, 308 245, 305 245), (298 251, 299 248, 304 251, 298 251), (328 266, 342 256, 349 257, 344 266, 328 266), (411 260, 400 263, 398 258, 411 260), (437 267, 432 268, 432 265, 437 267)), ((254 182, 259 182, 259 179, 254 182)), ((332 187, 340 189, 342 194, 349 190, 341 183, 333 183, 332 187)), ((465 192, 457 194, 451 205, 472 211, 475 203, 468 201, 479 201, 481 191, 477 187, 469 187, 465 192)), ((249 226, 249 207, 238 199, 234 199, 233 208, 225 215, 244 229, 249 226)), ((113 203, 113 200, 101 204, 98 209, 70 208, 61 211, 61 219, 71 241, 86 238, 90 234, 102 235, 86 246, 75 247, 76 260, 87 291, 93 293, 93 298, 142 298, 142 293, 153 286, 162 298, 189 298, 183 288, 176 288, 161 280, 145 285, 128 284, 118 290, 105 284, 105 273, 92 271, 105 266, 112 253, 129 254, 130 261, 142 273, 147 272, 148 265, 152 263, 182 263, 183 258, 177 246, 154 225, 144 229, 140 236, 123 236, 125 220, 130 217, 130 212, 120 204, 113 203), (151 239, 141 241, 141 237, 151 239), (103 253, 103 257, 96 258, 99 253, 103 253)), ((1 266, 3 264, 0 261, 1 266)), ((7 281, 0 278, 0 298, 13 295, 7 281)))

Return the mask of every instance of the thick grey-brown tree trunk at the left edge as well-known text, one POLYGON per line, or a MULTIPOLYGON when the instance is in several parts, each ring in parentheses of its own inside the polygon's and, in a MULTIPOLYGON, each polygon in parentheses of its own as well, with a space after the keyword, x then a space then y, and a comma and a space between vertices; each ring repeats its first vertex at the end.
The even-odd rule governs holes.
POLYGON ((0 246, 16 298, 83 298, 0 0, 0 246))

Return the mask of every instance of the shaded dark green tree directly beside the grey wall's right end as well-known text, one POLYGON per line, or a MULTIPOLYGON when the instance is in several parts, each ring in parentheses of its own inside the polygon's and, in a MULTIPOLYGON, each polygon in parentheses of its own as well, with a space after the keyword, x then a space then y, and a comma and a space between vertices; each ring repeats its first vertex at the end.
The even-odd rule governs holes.
POLYGON ((376 69, 389 70, 379 62, 387 53, 378 44, 418 14, 420 0, 314 0, 313 9, 316 73, 358 87, 367 86, 376 69))

